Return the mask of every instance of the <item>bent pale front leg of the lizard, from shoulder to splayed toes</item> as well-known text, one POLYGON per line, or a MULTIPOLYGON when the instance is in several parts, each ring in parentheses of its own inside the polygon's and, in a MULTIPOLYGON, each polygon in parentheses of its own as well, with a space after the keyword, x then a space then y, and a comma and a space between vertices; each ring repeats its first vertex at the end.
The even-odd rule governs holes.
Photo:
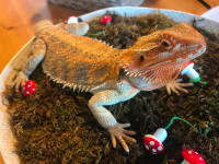
POLYGON ((104 105, 113 105, 119 102, 127 101, 134 97, 140 90, 136 87, 127 87, 126 90, 105 90, 94 94, 89 101, 89 107, 93 113, 99 124, 108 130, 112 138, 113 147, 116 147, 116 139, 122 143, 126 152, 129 152, 128 145, 125 140, 136 142, 136 140, 129 134, 135 134, 134 131, 125 130, 124 128, 129 127, 129 124, 118 124, 115 117, 108 112, 104 105), (125 139, 125 140, 124 140, 125 139))

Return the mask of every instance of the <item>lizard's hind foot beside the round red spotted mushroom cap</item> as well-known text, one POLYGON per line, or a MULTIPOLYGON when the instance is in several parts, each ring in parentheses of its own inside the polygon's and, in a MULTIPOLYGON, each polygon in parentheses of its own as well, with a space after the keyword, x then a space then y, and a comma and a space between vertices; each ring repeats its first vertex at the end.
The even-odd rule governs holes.
POLYGON ((26 74, 24 74, 24 72, 21 71, 16 75, 16 78, 11 86, 12 87, 15 86, 15 91, 19 92, 20 86, 23 86, 26 81, 28 81, 28 77, 26 74))

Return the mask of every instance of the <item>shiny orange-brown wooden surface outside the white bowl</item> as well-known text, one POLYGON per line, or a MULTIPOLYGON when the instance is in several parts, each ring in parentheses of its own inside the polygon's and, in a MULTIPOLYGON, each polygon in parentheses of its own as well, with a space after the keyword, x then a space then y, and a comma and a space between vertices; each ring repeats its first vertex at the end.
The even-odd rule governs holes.
MULTIPOLYGON (((211 7, 218 0, 206 0, 211 7)), ((31 39, 37 21, 51 20, 55 24, 70 15, 87 12, 54 5, 47 0, 0 0, 0 72, 22 46, 31 39)), ((146 0, 142 7, 171 9, 200 15, 208 11, 198 0, 146 0)), ((0 156, 0 164, 3 164, 0 156)))

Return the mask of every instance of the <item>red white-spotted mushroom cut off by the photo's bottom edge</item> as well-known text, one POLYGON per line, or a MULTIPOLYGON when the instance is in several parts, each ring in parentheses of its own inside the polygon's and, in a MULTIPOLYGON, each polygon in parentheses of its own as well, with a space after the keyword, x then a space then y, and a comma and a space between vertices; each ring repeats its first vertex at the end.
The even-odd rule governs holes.
POLYGON ((181 164, 206 164, 204 157, 192 149, 184 149, 182 155, 184 161, 181 164))

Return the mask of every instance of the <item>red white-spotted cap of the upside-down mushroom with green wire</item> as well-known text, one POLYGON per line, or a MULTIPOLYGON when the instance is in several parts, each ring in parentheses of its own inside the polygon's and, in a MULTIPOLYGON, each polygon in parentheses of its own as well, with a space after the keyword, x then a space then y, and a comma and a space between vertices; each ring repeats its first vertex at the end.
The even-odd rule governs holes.
POLYGON ((143 144, 148 151, 152 154, 161 154, 164 151, 162 142, 160 142, 154 136, 146 134, 143 137, 143 144))

